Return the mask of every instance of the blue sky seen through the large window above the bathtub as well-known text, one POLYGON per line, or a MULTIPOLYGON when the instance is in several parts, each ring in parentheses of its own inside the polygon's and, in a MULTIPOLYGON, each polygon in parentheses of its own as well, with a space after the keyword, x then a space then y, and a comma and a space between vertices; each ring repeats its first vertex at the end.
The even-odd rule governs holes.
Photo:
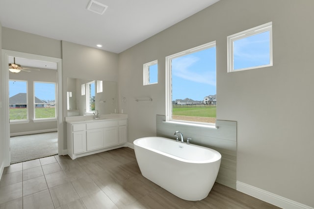
POLYGON ((216 94, 216 47, 172 59, 172 100, 216 94))

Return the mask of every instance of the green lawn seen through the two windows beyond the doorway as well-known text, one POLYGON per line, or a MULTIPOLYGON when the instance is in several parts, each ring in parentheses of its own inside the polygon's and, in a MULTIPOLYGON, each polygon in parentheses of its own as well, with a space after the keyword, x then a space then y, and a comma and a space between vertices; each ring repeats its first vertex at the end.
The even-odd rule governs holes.
MULTIPOLYGON (((27 109, 26 108, 16 108, 10 109, 10 120, 22 120, 27 119, 27 109)), ((49 118, 55 117, 55 108, 36 108, 35 109, 36 118, 49 118)))

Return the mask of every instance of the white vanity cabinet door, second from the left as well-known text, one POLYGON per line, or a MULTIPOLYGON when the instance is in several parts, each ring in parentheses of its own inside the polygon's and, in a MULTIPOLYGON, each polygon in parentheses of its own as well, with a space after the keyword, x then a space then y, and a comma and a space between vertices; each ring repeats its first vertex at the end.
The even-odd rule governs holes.
POLYGON ((102 128, 87 130, 87 151, 104 147, 104 132, 102 128))

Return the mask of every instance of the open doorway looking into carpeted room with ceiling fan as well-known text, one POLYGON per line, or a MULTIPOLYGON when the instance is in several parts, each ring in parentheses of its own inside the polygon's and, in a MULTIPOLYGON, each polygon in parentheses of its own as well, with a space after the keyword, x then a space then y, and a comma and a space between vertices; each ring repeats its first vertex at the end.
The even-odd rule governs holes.
POLYGON ((9 63, 11 164, 58 154, 56 64, 11 56, 9 63))

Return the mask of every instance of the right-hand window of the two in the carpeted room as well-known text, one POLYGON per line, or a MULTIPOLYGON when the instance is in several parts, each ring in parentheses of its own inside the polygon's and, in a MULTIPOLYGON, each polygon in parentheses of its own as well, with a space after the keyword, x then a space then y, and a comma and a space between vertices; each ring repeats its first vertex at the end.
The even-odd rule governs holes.
POLYGON ((56 118, 56 84, 34 82, 34 119, 56 118))

